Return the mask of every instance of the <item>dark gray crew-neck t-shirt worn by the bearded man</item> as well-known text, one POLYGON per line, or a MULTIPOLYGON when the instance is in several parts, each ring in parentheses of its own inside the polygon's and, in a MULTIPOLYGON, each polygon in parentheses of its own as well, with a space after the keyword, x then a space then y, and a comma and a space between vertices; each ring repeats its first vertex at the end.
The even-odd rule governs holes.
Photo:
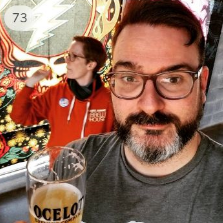
POLYGON ((139 174, 115 132, 69 144, 87 160, 85 223, 223 223, 223 146, 201 134, 195 157, 165 177, 139 174))

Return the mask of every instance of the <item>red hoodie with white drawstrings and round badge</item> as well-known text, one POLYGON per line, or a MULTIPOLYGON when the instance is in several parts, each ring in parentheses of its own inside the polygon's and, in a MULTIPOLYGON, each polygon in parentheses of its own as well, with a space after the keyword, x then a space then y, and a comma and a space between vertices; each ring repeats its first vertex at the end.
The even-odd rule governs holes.
POLYGON ((33 90, 25 86, 18 93, 11 118, 22 125, 47 119, 51 128, 48 146, 63 146, 89 134, 113 130, 110 91, 104 86, 84 101, 75 98, 67 83, 52 86, 35 99, 31 98, 33 90))

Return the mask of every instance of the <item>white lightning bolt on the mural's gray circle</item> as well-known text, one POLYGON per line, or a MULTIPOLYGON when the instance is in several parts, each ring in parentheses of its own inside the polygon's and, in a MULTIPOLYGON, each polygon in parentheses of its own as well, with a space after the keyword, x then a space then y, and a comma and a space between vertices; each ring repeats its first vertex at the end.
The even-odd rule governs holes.
POLYGON ((33 8, 34 22, 26 31, 32 31, 33 34, 29 40, 26 52, 29 52, 39 46, 43 41, 54 36, 50 33, 68 20, 56 20, 60 15, 64 14, 74 5, 60 5, 64 0, 43 0, 33 8))

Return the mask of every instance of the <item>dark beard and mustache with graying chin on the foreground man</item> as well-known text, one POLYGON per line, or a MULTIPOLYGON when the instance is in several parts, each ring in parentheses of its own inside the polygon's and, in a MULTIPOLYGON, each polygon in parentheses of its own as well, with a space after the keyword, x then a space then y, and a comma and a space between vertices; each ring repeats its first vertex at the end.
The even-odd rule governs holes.
POLYGON ((156 112, 152 116, 145 112, 129 115, 124 124, 116 119, 117 135, 133 152, 140 162, 157 164, 178 154, 192 139, 203 115, 203 105, 199 103, 197 114, 185 123, 173 114, 156 112), (140 135, 134 125, 173 124, 175 130, 147 130, 140 135))

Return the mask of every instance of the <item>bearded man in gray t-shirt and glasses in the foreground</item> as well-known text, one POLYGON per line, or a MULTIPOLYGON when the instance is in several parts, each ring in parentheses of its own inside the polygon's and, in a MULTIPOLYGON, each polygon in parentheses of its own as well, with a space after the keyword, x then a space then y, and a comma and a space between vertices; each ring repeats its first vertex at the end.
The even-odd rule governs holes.
POLYGON ((107 75, 117 132, 69 144, 87 160, 85 223, 223 222, 223 146, 197 130, 208 68, 179 1, 130 1, 107 75))

